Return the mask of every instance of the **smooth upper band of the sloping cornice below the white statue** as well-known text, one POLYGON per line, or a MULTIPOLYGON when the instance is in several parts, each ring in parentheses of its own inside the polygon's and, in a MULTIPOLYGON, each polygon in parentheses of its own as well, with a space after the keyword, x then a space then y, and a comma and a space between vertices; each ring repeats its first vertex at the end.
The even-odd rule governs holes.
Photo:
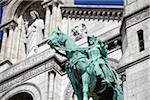
POLYGON ((38 66, 49 59, 52 59, 54 57, 54 54, 55 53, 53 50, 48 49, 42 53, 29 57, 24 61, 10 66, 9 69, 0 73, 0 83, 11 77, 14 77, 15 75, 18 75, 26 70, 33 68, 34 66, 38 66))

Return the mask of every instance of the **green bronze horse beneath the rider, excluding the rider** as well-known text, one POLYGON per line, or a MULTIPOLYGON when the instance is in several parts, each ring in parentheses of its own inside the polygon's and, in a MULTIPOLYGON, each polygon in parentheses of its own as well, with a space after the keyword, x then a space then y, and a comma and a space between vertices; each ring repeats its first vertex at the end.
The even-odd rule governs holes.
POLYGON ((52 48, 59 47, 66 52, 66 72, 78 100, 88 100, 89 96, 92 96, 94 100, 99 100, 97 92, 103 92, 104 88, 96 92, 97 81, 101 82, 100 86, 113 88, 113 100, 123 100, 122 90, 116 82, 116 77, 113 77, 113 81, 109 84, 107 82, 103 83, 103 79, 98 79, 86 54, 80 52, 81 48, 78 48, 75 42, 61 30, 57 29, 52 32, 48 44, 52 48))

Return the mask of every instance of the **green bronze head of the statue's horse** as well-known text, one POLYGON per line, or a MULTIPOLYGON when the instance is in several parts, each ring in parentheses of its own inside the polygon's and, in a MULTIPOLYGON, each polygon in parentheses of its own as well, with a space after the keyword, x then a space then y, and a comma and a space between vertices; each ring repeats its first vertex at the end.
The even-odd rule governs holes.
POLYGON ((52 32, 50 39, 48 40, 48 44, 53 47, 60 47, 64 45, 65 37, 64 33, 60 29, 56 29, 52 32))

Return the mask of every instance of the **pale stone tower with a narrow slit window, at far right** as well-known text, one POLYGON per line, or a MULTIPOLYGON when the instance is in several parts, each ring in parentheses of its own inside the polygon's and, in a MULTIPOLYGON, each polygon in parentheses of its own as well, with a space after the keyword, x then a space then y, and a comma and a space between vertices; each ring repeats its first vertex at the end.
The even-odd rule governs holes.
POLYGON ((124 9, 120 71, 126 74, 125 100, 149 100, 150 1, 125 0, 124 9))

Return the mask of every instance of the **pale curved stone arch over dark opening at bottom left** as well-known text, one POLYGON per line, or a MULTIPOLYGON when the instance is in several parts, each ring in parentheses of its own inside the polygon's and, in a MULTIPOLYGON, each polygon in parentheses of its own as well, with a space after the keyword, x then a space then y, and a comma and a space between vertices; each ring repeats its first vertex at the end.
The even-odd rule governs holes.
POLYGON ((14 95, 22 92, 29 93, 33 97, 33 100, 41 100, 40 89, 32 83, 24 83, 24 84, 17 85, 16 87, 13 87, 12 89, 4 93, 0 97, 0 100, 8 100, 14 95))

